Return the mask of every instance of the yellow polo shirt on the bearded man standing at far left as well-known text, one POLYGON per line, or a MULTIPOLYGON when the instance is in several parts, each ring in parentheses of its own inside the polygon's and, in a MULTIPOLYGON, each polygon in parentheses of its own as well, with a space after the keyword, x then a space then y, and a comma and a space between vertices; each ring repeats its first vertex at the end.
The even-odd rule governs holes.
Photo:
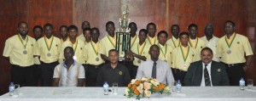
POLYGON ((34 65, 33 55, 36 54, 36 48, 36 40, 31 36, 26 36, 26 39, 23 40, 21 36, 15 35, 6 40, 3 56, 9 57, 12 65, 31 66, 34 65), (24 53, 25 50, 26 54, 24 53))

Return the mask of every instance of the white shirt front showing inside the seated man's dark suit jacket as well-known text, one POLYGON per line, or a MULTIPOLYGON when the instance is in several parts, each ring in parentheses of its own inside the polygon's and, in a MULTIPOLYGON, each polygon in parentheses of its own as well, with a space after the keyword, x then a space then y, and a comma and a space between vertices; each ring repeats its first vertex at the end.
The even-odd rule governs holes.
MULTIPOLYGON (((205 64, 202 63, 202 65, 203 65, 203 68, 202 68, 202 77, 201 77, 201 87, 206 87, 206 82, 205 82, 205 64)), ((207 70, 208 70, 209 78, 210 78, 210 81, 211 81, 211 87, 212 87, 211 65, 212 65, 212 62, 210 62, 207 65, 207 70)))

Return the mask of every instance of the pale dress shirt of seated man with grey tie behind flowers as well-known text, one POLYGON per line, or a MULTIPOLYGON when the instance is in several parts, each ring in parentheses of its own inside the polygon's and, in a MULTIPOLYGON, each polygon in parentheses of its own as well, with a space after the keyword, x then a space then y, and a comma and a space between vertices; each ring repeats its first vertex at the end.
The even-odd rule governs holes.
MULTIPOLYGON (((143 76, 151 77, 153 65, 154 61, 152 61, 152 59, 139 65, 136 78, 140 79, 143 76)), ((171 87, 174 83, 170 65, 160 59, 156 61, 156 79, 164 84, 167 84, 169 87, 171 87)))

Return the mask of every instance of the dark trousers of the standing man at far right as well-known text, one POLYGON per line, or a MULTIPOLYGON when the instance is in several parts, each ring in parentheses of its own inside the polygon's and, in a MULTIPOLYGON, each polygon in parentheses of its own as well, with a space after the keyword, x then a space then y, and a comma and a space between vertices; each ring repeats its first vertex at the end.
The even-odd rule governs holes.
POLYGON ((239 86, 239 81, 241 80, 241 77, 243 77, 243 79, 246 81, 245 72, 242 69, 244 63, 224 65, 226 67, 226 71, 230 79, 230 86, 239 86))

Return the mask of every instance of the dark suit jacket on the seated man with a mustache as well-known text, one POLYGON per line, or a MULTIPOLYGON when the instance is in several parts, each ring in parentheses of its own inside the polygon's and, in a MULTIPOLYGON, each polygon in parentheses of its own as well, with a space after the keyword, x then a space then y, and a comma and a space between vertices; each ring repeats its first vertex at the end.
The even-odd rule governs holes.
MULTIPOLYGON (((185 86, 201 86, 202 79, 202 61, 196 61, 189 65, 188 72, 184 79, 185 86)), ((226 73, 225 66, 212 60, 211 65, 212 86, 229 86, 230 80, 226 73)))

